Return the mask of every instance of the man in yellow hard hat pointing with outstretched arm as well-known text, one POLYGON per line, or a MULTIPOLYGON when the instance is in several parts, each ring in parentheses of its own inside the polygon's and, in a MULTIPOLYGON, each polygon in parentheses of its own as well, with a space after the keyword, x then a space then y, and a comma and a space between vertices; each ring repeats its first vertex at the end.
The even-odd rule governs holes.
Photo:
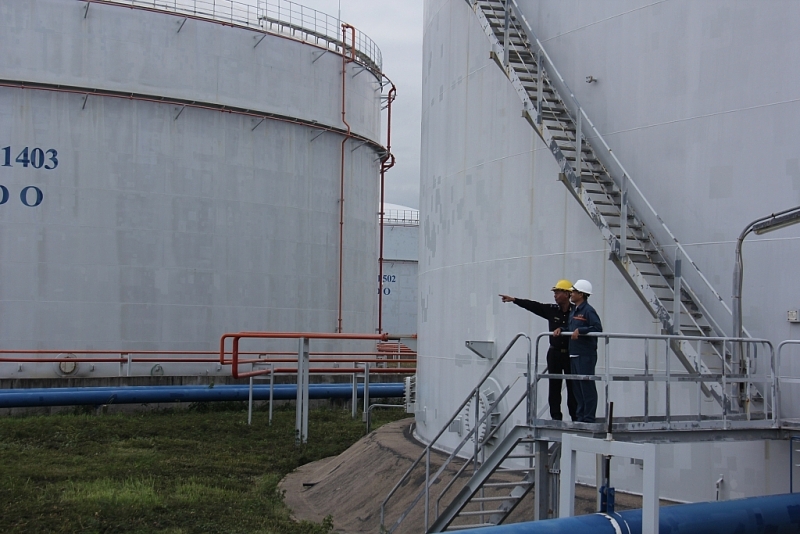
MULTIPOLYGON (((535 313, 539 317, 547 319, 547 326, 550 332, 556 329, 563 329, 567 326, 572 305, 569 302, 569 294, 572 289, 572 282, 569 280, 559 280, 553 286, 553 298, 555 304, 544 304, 535 300, 526 300, 500 295, 503 302, 513 302, 529 312, 535 313)), ((569 338, 550 336, 550 348, 547 350, 547 372, 550 374, 569 374, 569 338)), ((551 378, 549 381, 549 393, 547 398, 550 404, 550 417, 553 420, 561 421, 561 380, 551 378)), ((567 380, 567 409, 573 421, 577 420, 577 401, 572 391, 572 384, 567 380)))

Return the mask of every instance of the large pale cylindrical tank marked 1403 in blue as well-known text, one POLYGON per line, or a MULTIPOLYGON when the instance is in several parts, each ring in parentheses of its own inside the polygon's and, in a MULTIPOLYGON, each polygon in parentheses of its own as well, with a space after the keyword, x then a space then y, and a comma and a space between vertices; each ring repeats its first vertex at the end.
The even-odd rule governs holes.
POLYGON ((0 1, 0 345, 373 333, 380 52, 167 4, 0 1))

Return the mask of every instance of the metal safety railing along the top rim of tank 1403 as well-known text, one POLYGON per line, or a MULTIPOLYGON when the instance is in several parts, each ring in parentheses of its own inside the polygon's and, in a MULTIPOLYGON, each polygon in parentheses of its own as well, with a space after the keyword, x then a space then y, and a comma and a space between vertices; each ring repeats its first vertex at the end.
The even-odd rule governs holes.
MULTIPOLYGON (((121 4, 208 19, 310 42, 340 54, 349 53, 349 47, 342 46, 342 21, 339 18, 290 0, 258 0, 256 5, 235 0, 80 1, 87 4, 121 4)), ((364 32, 356 30, 355 47, 357 61, 380 76, 383 59, 375 42, 364 32)))

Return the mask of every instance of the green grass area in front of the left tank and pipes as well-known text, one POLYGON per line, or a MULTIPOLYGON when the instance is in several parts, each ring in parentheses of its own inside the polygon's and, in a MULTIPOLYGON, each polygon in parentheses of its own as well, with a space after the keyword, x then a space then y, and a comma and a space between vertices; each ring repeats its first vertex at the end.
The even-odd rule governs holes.
MULTIPOLYGON (((373 410, 372 428, 403 417, 373 410)), ((330 519, 293 521, 278 483, 344 451, 364 424, 312 410, 308 444, 295 446, 294 421, 285 406, 272 426, 264 411, 248 426, 242 403, 0 418, 0 532, 330 532, 330 519)))

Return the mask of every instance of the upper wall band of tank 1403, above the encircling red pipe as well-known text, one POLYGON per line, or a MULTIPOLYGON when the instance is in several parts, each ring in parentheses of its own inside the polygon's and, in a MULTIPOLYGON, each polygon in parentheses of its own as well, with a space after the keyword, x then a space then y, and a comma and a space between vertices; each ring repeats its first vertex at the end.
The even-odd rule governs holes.
MULTIPOLYGON (((262 33, 125 6, 93 4, 86 12, 74 0, 2 0, 0 14, 0 47, 11 52, 0 58, 4 80, 153 94, 345 127, 335 74, 342 58, 325 49, 273 35, 255 46, 262 33)), ((377 91, 369 73, 348 79, 347 122, 370 139, 380 139, 380 108, 364 103, 377 91)))

